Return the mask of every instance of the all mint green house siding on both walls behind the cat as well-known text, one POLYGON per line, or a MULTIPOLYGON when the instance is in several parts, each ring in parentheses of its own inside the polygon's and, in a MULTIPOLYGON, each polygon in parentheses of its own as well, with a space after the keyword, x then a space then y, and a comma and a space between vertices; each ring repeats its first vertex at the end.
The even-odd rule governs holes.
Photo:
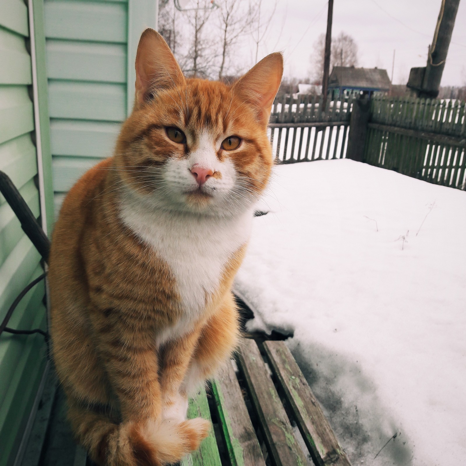
MULTIPOLYGON (((156 27, 156 12, 157 0, 0 0, 0 170, 49 235, 54 204, 56 210, 75 180, 112 154, 132 106, 137 42, 145 27, 156 27)), ((42 272, 0 196, 0 320, 42 272)), ((46 329, 44 295, 42 282, 9 326, 46 329)), ((0 466, 14 464, 46 359, 42 336, 0 336, 0 466)))

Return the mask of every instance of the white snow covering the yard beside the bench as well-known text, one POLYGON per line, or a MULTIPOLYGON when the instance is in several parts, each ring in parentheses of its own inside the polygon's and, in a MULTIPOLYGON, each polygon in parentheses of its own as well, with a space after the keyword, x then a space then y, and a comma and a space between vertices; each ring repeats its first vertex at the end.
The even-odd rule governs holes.
POLYGON ((464 464, 466 192, 324 160, 276 167, 258 209, 248 329, 294 335, 353 465, 464 464))

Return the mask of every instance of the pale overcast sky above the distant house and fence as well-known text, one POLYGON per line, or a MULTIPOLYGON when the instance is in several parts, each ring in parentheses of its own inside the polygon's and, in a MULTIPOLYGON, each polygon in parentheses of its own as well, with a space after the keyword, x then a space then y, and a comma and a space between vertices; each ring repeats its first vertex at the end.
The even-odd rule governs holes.
MULTIPOLYGON (((274 0, 263 0, 264 12, 274 0)), ((425 66, 441 0, 335 0, 332 35, 351 35, 359 49, 359 66, 387 69, 393 82, 405 84, 411 67, 425 66)), ((327 0, 278 0, 273 23, 260 55, 276 50, 285 55, 285 75, 307 77, 309 56, 325 32, 327 0), (281 33, 281 34, 280 34, 281 33)), ((442 86, 466 85, 466 1, 460 2, 442 86)))

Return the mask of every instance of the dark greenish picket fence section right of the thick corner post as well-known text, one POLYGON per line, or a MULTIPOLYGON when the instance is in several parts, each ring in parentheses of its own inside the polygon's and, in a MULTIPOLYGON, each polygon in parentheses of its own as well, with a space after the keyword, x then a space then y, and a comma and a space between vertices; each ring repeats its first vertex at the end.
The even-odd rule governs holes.
POLYGON ((466 187, 466 103, 371 99, 363 161, 431 183, 466 187))

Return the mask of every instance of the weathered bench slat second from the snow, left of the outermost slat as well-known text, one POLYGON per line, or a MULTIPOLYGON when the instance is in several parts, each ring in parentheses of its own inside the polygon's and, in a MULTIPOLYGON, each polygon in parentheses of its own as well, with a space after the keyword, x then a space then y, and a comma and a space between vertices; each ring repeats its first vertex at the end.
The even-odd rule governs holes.
POLYGON ((239 354, 251 400, 276 466, 306 465, 306 455, 293 433, 287 414, 254 340, 245 340, 239 354))

